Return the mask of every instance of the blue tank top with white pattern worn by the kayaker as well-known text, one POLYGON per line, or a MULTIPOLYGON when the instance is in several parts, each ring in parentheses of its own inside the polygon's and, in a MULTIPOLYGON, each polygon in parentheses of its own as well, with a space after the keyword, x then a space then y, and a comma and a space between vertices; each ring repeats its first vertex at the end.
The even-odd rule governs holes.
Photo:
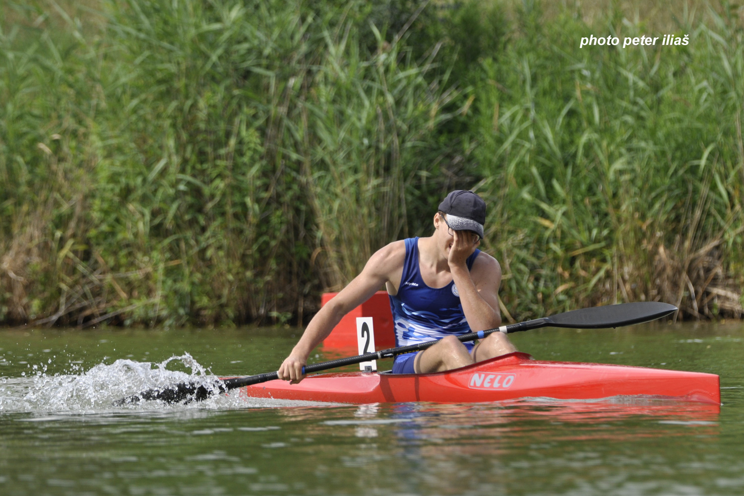
MULTIPOLYGON (((480 252, 476 249, 468 257, 468 270, 480 252)), ((405 239, 405 262, 398 294, 388 296, 393 312, 396 347, 470 332, 455 281, 439 289, 430 288, 423 282, 417 237, 405 239)), ((468 350, 473 347, 472 342, 464 344, 468 350)), ((405 359, 407 355, 399 355, 396 361, 405 359)))

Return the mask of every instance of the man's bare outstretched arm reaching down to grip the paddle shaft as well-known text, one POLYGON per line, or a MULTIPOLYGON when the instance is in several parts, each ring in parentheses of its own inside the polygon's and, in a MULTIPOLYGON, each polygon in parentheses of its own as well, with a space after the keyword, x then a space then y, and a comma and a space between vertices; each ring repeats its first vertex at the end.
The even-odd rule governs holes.
MULTIPOLYGON (((391 280, 391 274, 397 272, 395 269, 403 267, 404 258, 403 241, 393 242, 376 251, 362 272, 315 314, 298 344, 279 367, 279 379, 292 381, 293 384, 301 381, 304 377, 302 367, 307 364, 310 352, 327 338, 344 315, 364 303, 391 280)), ((391 282, 394 285, 399 283, 391 282)))

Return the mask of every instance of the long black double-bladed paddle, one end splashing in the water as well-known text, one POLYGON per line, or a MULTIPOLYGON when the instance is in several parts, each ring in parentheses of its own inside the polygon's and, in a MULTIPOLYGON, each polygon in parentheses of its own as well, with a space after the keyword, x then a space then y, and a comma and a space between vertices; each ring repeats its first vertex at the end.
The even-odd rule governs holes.
MULTIPOLYGON (((501 326, 496 329, 487 331, 469 332, 468 334, 459 335, 460 341, 475 341, 483 339, 492 332, 519 332, 529 329, 538 329, 539 327, 569 327, 571 329, 604 329, 608 327, 629 326, 634 323, 653 321, 662 318, 672 312, 676 312, 677 307, 668 303, 658 303, 653 301, 639 303, 622 303, 620 305, 595 306, 589 309, 571 310, 551 317, 537 318, 533 321, 512 323, 507 326, 501 326)), ((319 372, 345 365, 359 364, 362 361, 380 360, 382 358, 391 358, 395 355, 402 355, 414 351, 426 350, 436 344, 437 341, 426 341, 420 344, 411 344, 407 347, 391 348, 378 352, 365 353, 364 355, 352 356, 348 358, 339 358, 338 360, 324 361, 320 364, 306 365, 303 367, 303 373, 319 372)), ((182 382, 173 386, 162 389, 150 389, 138 393, 128 398, 123 398, 115 402, 117 406, 139 403, 143 400, 159 399, 167 403, 187 401, 201 401, 214 393, 225 393, 237 387, 259 384, 260 382, 272 381, 279 379, 276 372, 258 374, 257 376, 234 377, 231 379, 217 379, 212 384, 199 384, 196 382, 182 382)))

